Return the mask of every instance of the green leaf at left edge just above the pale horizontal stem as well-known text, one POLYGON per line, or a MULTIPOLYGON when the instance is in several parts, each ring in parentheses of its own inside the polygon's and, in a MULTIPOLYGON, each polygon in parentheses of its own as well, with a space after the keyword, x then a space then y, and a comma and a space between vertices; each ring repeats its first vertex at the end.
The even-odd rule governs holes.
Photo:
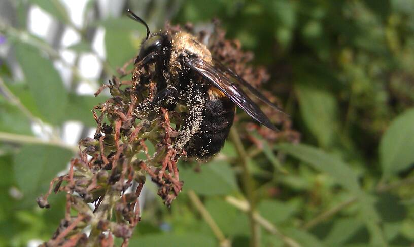
POLYGON ((31 135, 30 120, 20 109, 0 96, 0 132, 31 135))

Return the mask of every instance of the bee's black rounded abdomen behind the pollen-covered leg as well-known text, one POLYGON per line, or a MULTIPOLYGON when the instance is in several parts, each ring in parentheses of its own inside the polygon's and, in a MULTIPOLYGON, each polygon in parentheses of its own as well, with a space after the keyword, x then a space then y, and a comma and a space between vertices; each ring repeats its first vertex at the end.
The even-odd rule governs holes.
POLYGON ((222 149, 233 125, 234 108, 227 97, 206 100, 200 131, 186 147, 188 157, 208 158, 222 149))

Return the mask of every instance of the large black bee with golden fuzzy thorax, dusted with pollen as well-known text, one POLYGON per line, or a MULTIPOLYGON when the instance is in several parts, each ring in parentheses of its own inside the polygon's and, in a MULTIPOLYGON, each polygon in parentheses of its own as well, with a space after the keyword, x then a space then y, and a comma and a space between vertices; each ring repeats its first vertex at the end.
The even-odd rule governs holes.
POLYGON ((233 125, 235 106, 274 131, 278 129, 247 96, 241 86, 258 99, 280 111, 257 89, 212 57, 209 49, 194 35, 181 31, 151 33, 147 23, 128 9, 130 17, 147 28, 135 64, 146 70, 155 65, 156 95, 154 106, 174 109, 187 106, 175 148, 187 157, 206 159, 224 146, 233 125))

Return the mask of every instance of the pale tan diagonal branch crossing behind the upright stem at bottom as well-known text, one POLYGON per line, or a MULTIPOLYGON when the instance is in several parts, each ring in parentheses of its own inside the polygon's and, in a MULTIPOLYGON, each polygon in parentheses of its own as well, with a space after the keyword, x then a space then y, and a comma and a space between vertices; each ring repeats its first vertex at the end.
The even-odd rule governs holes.
MULTIPOLYGON (((239 199, 234 198, 233 196, 226 196, 225 200, 229 204, 233 205, 234 207, 236 207, 237 209, 241 211, 249 212, 250 210, 249 202, 247 202, 246 200, 239 200, 239 199)), ((268 232, 280 237, 287 246, 301 247, 301 245, 298 242, 296 242, 294 239, 281 233, 276 226, 274 226, 271 222, 263 218, 263 216, 261 216, 258 212, 253 213, 253 218, 257 223, 259 223, 268 232)))

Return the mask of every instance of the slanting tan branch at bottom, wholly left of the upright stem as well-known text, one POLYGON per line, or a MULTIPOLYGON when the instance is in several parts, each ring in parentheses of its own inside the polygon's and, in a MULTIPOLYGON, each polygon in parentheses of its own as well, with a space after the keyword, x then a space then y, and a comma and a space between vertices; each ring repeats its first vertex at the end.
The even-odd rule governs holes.
POLYGON ((217 223, 214 221, 213 217, 210 215, 209 211, 204 207, 200 198, 193 190, 188 191, 188 196, 190 197, 191 201, 193 202, 195 208, 200 212, 201 216, 205 220, 205 222, 210 226, 214 235, 216 235, 217 239, 220 241, 221 247, 230 247, 230 241, 226 239, 223 232, 220 230, 217 223))

